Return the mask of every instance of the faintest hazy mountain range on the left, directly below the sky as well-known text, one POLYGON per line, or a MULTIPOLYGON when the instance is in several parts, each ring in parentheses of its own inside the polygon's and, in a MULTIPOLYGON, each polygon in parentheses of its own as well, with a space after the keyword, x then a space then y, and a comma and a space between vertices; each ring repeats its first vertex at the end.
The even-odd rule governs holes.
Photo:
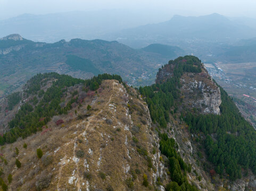
POLYGON ((128 10, 22 14, 0 20, 0 37, 18 33, 24 38, 40 42, 73 38, 99 39, 105 33, 154 22, 159 22, 159 19, 153 14, 128 10))

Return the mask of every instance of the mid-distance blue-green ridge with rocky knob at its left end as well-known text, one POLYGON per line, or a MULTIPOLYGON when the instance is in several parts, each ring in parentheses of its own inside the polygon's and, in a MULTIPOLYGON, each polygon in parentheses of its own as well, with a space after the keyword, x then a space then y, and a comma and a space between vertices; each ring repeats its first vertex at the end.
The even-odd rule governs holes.
POLYGON ((136 50, 117 41, 81 39, 47 44, 12 34, 0 39, 0 97, 44 72, 82 79, 111 73, 120 74, 131 85, 152 84, 161 65, 183 54, 184 50, 165 45, 136 50))

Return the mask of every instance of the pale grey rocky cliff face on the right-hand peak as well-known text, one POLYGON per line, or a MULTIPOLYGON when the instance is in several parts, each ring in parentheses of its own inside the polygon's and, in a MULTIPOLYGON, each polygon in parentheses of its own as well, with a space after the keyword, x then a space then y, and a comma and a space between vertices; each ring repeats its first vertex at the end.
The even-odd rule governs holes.
MULTIPOLYGON (((172 77, 174 67, 172 64, 164 66, 156 76, 156 83, 172 77)), ((185 72, 180 77, 180 83, 184 106, 200 109, 203 114, 220 114, 220 90, 204 67, 201 73, 185 72)))

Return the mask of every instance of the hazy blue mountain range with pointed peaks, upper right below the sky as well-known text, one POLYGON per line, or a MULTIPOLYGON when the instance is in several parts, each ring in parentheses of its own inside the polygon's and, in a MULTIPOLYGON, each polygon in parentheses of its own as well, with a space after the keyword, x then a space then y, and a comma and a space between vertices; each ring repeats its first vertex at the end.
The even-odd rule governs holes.
POLYGON ((147 24, 111 33, 108 38, 118 38, 120 42, 131 47, 140 47, 156 42, 161 44, 174 44, 177 41, 233 42, 238 39, 256 37, 256 29, 249 27, 246 25, 247 23, 230 20, 217 13, 204 16, 175 15, 166 22, 147 24))

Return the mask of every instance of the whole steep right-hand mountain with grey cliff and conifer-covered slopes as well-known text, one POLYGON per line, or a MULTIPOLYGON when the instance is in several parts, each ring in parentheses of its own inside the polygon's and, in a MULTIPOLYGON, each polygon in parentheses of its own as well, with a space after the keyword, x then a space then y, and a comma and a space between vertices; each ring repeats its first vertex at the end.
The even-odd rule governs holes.
MULTIPOLYGON (((156 84, 139 91, 153 123, 175 138, 180 156, 192 164, 188 180, 204 190, 255 189, 255 129, 201 60, 170 60, 159 69, 156 84)), ((164 153, 161 141, 160 150, 164 153)))

